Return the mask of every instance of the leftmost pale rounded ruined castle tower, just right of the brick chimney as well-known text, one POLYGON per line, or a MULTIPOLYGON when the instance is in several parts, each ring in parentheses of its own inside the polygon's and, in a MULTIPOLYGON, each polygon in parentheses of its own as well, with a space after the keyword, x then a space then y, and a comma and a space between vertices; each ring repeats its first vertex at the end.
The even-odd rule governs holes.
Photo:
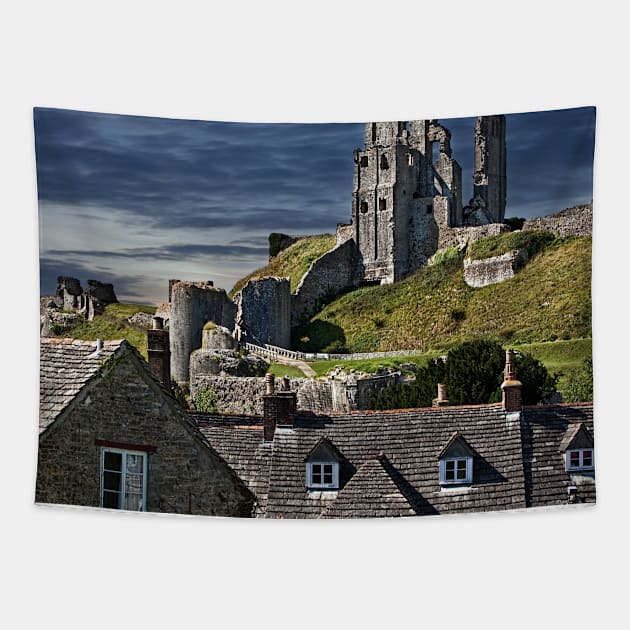
POLYGON ((234 328, 236 308, 224 289, 206 282, 177 282, 171 287, 170 346, 171 377, 188 381, 190 353, 201 348, 207 322, 234 328))

